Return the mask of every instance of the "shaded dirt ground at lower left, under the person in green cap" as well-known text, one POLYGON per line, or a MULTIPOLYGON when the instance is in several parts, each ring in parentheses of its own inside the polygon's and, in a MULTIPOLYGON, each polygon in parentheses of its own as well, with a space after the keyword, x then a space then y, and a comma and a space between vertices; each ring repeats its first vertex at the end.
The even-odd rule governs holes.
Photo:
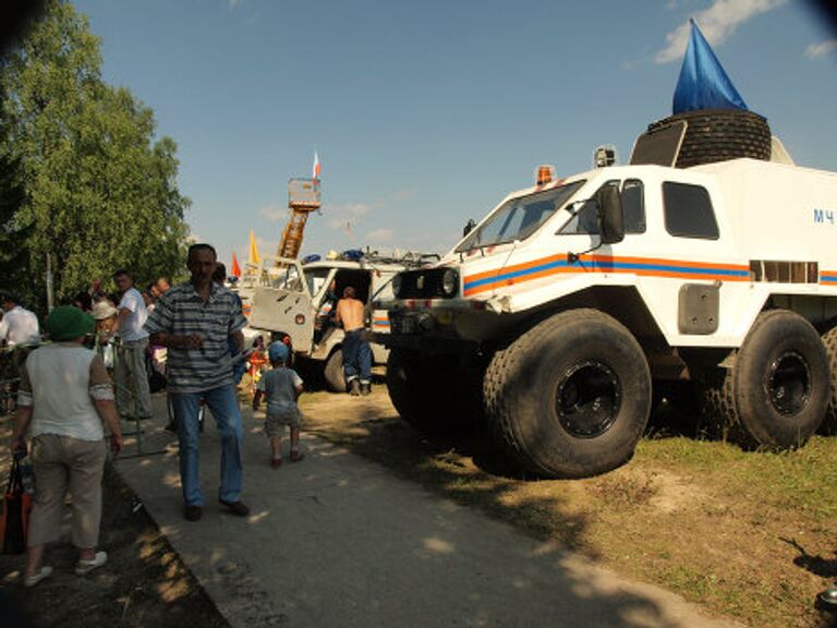
MULTIPOLYGON (((157 401, 160 398, 156 399, 157 401)), ((11 416, 0 418, 0 476, 9 473, 11 416)), ((64 520, 63 539, 47 552, 52 576, 34 589, 21 587, 24 555, 0 555, 2 628, 223 628, 228 623, 180 560, 134 494, 106 470, 99 547, 108 564, 92 575, 73 573, 77 559, 64 520)))

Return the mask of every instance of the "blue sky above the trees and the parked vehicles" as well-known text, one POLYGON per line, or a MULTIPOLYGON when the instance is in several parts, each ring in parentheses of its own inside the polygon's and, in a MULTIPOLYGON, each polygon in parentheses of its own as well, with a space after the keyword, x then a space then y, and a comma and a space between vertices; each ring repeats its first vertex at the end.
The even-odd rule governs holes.
POLYGON ((837 33, 801 0, 76 0, 107 82, 178 143, 193 234, 274 254, 323 167, 303 254, 444 253, 538 164, 621 161, 671 113, 693 16, 798 164, 837 171, 837 33))

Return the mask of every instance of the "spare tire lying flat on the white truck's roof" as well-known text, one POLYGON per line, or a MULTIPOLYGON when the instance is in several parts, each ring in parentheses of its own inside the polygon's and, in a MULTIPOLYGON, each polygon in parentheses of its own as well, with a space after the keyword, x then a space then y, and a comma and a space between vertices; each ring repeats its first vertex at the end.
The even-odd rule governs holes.
POLYGON ((689 168, 738 157, 769 161, 771 128, 767 120, 740 109, 699 109, 669 116, 648 131, 686 120, 687 130, 675 166, 689 168))

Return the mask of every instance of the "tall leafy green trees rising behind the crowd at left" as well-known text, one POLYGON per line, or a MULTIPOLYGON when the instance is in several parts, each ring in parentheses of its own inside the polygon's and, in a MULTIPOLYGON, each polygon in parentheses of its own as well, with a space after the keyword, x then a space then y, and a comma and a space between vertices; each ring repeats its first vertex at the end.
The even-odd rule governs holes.
POLYGON ((151 110, 107 85, 100 65, 98 38, 65 0, 49 0, 0 60, 0 165, 12 166, 0 220, 10 212, 38 294, 50 254, 59 300, 118 267, 137 279, 175 274, 184 256, 177 146, 154 140, 151 110))

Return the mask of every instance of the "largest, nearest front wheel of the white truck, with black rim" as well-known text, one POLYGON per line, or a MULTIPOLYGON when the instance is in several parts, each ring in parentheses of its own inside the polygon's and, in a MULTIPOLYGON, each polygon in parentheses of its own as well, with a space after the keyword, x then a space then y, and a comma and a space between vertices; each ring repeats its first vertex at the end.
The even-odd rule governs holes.
POLYGON ((548 318, 498 351, 484 383, 486 418, 526 470, 604 473, 630 459, 651 408, 651 374, 631 333, 595 310, 548 318))

